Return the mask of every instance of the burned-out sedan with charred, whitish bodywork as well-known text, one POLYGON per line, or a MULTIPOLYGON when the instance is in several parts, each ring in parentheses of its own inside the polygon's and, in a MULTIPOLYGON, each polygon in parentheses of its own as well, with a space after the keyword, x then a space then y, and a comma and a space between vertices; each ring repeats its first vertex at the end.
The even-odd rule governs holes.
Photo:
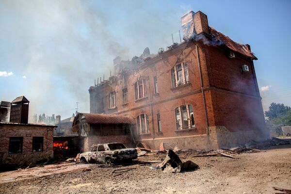
POLYGON ((113 163, 137 158, 134 148, 126 148, 122 143, 93 145, 91 151, 80 154, 81 162, 113 163))

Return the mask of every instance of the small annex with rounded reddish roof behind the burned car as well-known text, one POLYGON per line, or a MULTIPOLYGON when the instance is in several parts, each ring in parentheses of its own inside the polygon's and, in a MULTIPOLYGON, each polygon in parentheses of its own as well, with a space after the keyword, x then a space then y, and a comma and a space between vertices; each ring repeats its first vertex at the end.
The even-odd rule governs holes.
POLYGON ((85 152, 95 144, 120 142, 128 147, 133 146, 132 128, 135 128, 135 119, 130 116, 78 113, 72 130, 78 132, 81 152, 85 152))

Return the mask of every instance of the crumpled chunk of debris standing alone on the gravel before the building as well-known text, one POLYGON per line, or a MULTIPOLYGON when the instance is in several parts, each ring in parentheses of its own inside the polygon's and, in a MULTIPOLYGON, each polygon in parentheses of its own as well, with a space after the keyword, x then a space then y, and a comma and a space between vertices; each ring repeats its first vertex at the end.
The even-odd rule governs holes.
POLYGON ((192 161, 182 162, 178 155, 173 150, 169 149, 166 158, 159 164, 159 167, 164 173, 179 173, 181 168, 183 168, 183 170, 194 170, 198 165, 192 161))

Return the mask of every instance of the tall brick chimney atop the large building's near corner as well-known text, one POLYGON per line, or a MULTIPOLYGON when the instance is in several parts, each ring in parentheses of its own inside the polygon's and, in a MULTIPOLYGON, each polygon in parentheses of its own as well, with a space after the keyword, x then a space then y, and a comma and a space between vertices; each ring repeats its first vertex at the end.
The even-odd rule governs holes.
POLYGON ((181 17, 184 38, 192 38, 194 34, 204 33, 209 35, 208 19, 205 14, 198 11, 190 11, 181 17))

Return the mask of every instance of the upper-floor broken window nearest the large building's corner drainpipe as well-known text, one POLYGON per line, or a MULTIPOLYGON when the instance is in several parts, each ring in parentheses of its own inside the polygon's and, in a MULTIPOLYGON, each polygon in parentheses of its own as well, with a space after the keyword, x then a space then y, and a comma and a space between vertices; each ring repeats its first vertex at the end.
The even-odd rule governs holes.
POLYGON ((189 70, 186 63, 181 63, 171 69, 172 87, 189 83, 189 70))

